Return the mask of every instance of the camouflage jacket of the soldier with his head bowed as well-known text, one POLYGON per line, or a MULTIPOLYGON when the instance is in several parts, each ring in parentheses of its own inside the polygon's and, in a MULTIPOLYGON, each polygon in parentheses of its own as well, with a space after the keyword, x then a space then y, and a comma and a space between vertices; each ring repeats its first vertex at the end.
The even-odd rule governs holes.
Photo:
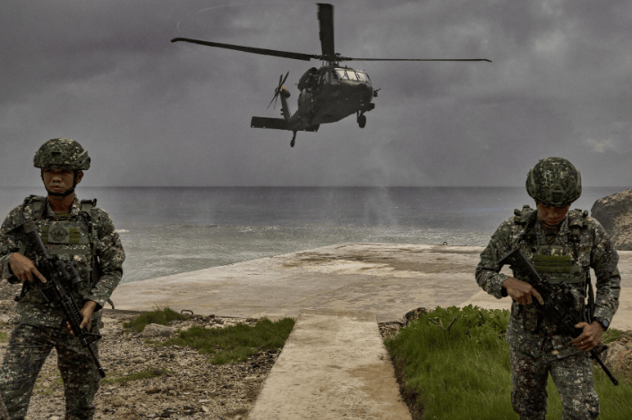
MULTIPOLYGON (((585 280, 590 279, 592 268, 596 276, 593 316, 611 321, 619 306, 621 278, 617 269, 619 255, 608 233, 596 219, 587 217, 587 212, 583 214, 581 210, 570 210, 553 242, 549 244, 546 232, 536 217, 537 213, 533 212, 534 210, 525 207, 522 216, 507 219, 496 229, 490 243, 481 253, 481 261, 476 267, 478 285, 499 299, 508 296, 507 290, 502 287, 508 276, 499 272, 498 261, 516 246, 532 264, 538 258, 536 254, 544 254, 544 258, 546 255, 570 255, 568 264, 576 267, 574 275, 576 279, 581 280, 568 283, 572 287, 573 295, 576 296, 576 308, 569 310, 576 310, 578 315, 582 312, 586 296, 585 280), (526 222, 528 216, 532 216, 533 219, 532 229, 525 235, 526 227, 529 225, 526 222)), ((568 276, 570 277, 570 274, 568 276)), ((514 272, 514 277, 520 279, 520 273, 514 272)), ((546 279, 546 276, 542 278, 546 279)), ((573 345, 572 339, 559 331, 554 320, 542 317, 539 308, 540 305, 535 304, 523 305, 514 302, 511 305, 507 330, 509 345, 524 353, 538 356, 543 340, 549 338, 558 357, 580 352, 573 345)))

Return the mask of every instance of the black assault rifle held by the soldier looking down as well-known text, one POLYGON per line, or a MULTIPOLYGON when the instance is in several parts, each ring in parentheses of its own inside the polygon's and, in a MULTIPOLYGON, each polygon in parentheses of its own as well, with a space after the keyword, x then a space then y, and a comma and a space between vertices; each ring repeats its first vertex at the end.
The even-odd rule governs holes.
MULTIPOLYGON (((575 297, 570 291, 570 286, 566 283, 553 286, 548 281, 542 279, 531 262, 525 258, 525 255, 523 255, 518 248, 514 248, 500 259, 498 262, 500 268, 507 262, 512 269, 526 275, 525 281, 540 292, 542 300, 544 301, 542 305, 544 315, 559 321, 559 326, 562 330, 573 339, 579 337, 583 330, 575 328, 577 320, 574 319, 571 312, 568 311, 568 308, 571 307, 571 304, 575 301, 575 297)), ((536 304, 536 301, 534 301, 534 304, 536 304)), ((590 323, 590 321, 588 321, 588 323, 590 323)), ((602 367, 603 372, 608 375, 612 383, 614 383, 615 386, 619 385, 619 381, 612 376, 608 367, 603 364, 602 359, 599 357, 599 352, 595 348, 590 351, 590 356, 602 367)))

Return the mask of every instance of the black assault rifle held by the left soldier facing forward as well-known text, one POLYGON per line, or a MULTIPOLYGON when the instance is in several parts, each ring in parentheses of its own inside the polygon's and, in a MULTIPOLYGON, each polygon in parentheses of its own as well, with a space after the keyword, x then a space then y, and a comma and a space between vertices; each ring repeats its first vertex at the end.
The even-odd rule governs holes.
POLYGON ((74 266, 74 261, 61 260, 56 255, 49 255, 46 245, 38 234, 35 222, 28 221, 19 227, 14 227, 10 234, 20 237, 39 256, 38 270, 47 279, 46 283, 39 279, 33 279, 33 284, 49 304, 60 304, 64 309, 66 320, 70 323, 74 336, 81 341, 83 347, 88 348, 94 364, 97 366, 101 378, 106 377, 106 372, 98 363, 98 357, 94 352, 92 343, 101 338, 99 334, 92 334, 86 327, 80 328, 83 316, 79 312, 79 306, 71 295, 69 286, 81 282, 79 271, 74 266))

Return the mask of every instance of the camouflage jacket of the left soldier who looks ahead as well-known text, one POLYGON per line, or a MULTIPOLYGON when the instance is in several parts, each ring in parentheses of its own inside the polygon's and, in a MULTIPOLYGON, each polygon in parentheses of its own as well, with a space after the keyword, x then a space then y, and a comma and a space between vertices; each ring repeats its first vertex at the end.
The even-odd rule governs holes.
MULTIPOLYGON (((64 226, 69 231, 68 239, 56 240, 59 219, 51 209, 48 200, 44 197, 37 197, 28 201, 24 207, 24 219, 33 218, 34 202, 39 201, 43 210, 42 216, 38 219, 38 231, 47 251, 51 255, 58 255, 62 259, 73 259, 77 270, 79 270, 81 283, 73 287, 73 297, 75 302, 81 307, 86 301, 97 303, 94 317, 98 317, 100 310, 107 299, 121 281, 123 276, 123 261, 125 253, 118 234, 115 232, 114 224, 104 210, 93 207, 90 214, 81 214, 81 201, 75 197, 68 220, 64 226), (42 201, 43 200, 43 201, 42 201), (90 220, 90 224, 86 219, 90 220), (96 238, 93 237, 96 234, 96 238), (94 255, 94 257, 93 257, 94 255)), ((21 219, 21 205, 11 210, 4 219, 0 228, 0 275, 11 283, 19 280, 15 278, 9 267, 9 258, 12 253, 22 253, 38 264, 38 257, 12 235, 7 235, 13 227, 23 223, 21 219)), ((45 304, 38 290, 29 288, 29 292, 21 299, 17 306, 18 320, 21 323, 31 325, 44 325, 57 327, 64 321, 64 313, 56 306, 45 304)))

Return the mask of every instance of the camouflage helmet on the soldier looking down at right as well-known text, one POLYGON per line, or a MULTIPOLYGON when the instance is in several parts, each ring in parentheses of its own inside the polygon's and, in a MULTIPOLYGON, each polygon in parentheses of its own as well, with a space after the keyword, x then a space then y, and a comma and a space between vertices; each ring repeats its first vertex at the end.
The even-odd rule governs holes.
POLYGON ((526 176, 526 191, 547 207, 565 207, 582 193, 582 176, 567 159, 541 159, 526 176))

